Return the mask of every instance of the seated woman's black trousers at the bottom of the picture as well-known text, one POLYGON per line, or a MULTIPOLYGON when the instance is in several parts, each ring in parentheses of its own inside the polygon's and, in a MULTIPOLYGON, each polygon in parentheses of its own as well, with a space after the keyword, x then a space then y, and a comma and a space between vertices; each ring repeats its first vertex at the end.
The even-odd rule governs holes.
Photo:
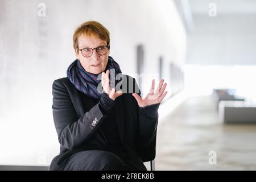
POLYGON ((134 170, 125 164, 118 155, 108 151, 88 150, 73 154, 64 171, 124 171, 134 170))

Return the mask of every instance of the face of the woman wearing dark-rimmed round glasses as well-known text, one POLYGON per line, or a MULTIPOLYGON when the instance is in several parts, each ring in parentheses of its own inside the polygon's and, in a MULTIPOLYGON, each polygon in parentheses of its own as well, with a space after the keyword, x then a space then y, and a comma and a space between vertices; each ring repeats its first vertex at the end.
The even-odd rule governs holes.
MULTIPOLYGON (((105 40, 101 40, 100 38, 96 38, 95 36, 86 36, 80 35, 77 39, 79 49, 83 49, 86 47, 96 48, 98 46, 107 46, 107 42, 105 40)), ((98 55, 96 49, 93 49, 93 54, 90 57, 84 57, 82 52, 76 52, 77 59, 80 60, 82 67, 84 67, 86 72, 99 74, 106 69, 106 65, 108 64, 108 56, 109 49, 105 55, 98 55)))

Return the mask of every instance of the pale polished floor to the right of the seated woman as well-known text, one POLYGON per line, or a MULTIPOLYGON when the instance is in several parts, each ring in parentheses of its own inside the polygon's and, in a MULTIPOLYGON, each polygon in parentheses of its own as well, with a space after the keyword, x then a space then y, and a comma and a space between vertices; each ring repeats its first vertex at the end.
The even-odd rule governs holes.
POLYGON ((224 125, 212 96, 185 100, 158 125, 156 170, 256 170, 256 125, 224 125))

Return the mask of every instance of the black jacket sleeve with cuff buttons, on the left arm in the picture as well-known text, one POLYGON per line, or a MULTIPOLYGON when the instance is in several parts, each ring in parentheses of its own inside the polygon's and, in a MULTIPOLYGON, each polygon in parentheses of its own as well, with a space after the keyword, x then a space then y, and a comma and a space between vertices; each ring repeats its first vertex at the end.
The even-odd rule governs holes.
POLYGON ((59 143, 70 150, 77 148, 97 130, 114 105, 114 101, 103 93, 98 104, 78 118, 68 90, 60 80, 53 82, 52 95, 53 120, 59 143))

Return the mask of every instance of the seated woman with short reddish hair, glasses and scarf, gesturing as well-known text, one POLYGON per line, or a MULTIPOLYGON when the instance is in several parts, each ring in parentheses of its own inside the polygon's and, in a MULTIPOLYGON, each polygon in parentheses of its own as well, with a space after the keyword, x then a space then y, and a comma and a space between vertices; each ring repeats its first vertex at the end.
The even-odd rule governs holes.
POLYGON ((67 77, 52 85, 60 154, 49 169, 146 170, 143 162, 155 157, 157 110, 166 83, 161 80, 154 92, 153 80, 144 99, 134 93, 139 90, 135 79, 122 75, 109 56, 109 31, 96 21, 76 28, 73 47, 77 59, 67 77))

